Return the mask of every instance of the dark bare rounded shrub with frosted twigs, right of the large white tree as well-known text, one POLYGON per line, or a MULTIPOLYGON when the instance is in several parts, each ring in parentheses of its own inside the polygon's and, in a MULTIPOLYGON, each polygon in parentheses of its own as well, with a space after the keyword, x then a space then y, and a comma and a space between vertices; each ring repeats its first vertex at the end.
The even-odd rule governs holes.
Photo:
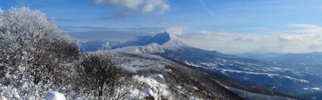
POLYGON ((113 61, 108 51, 85 53, 76 68, 79 93, 91 99, 133 99, 131 79, 113 61))

